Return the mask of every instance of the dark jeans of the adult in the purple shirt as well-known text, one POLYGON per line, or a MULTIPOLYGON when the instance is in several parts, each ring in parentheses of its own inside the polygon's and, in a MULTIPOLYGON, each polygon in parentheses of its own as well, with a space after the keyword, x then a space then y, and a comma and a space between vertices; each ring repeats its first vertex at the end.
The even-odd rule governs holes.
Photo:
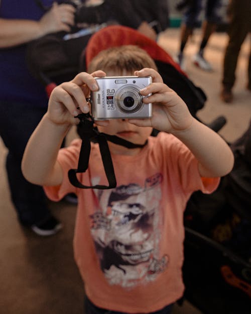
POLYGON ((0 136, 9 150, 6 168, 11 198, 19 221, 26 226, 50 215, 43 188, 28 182, 21 171, 25 146, 45 112, 46 108, 0 101, 0 136))

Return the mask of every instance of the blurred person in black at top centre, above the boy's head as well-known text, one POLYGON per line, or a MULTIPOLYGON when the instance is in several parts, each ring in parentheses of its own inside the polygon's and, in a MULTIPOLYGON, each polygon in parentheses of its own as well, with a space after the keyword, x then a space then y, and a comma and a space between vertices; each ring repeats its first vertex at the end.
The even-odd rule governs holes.
POLYGON ((90 0, 77 12, 77 20, 88 24, 118 23, 157 40, 169 26, 167 0, 90 0))

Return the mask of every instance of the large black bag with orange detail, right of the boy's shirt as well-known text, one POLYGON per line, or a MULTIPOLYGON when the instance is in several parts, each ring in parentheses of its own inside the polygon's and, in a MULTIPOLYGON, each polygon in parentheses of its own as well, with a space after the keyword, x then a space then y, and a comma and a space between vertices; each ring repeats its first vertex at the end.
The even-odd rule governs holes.
POLYGON ((184 213, 185 297, 208 314, 251 306, 251 123, 231 149, 233 170, 212 194, 193 193, 184 213))

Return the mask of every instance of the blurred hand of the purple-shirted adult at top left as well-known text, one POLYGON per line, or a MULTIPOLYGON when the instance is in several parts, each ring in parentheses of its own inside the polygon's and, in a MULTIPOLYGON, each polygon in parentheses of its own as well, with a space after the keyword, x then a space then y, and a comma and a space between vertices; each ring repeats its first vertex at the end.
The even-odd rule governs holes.
POLYGON ((59 31, 69 32, 74 25, 76 9, 67 4, 58 5, 56 2, 39 21, 41 36, 59 31))

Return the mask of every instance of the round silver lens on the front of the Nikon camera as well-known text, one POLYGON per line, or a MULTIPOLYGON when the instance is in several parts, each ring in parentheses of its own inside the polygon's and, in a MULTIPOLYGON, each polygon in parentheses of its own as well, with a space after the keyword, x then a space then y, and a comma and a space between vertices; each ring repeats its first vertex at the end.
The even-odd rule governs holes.
POLYGON ((143 96, 140 94, 140 88, 131 84, 119 88, 114 95, 114 99, 117 108, 128 115, 135 114, 143 106, 143 96))

